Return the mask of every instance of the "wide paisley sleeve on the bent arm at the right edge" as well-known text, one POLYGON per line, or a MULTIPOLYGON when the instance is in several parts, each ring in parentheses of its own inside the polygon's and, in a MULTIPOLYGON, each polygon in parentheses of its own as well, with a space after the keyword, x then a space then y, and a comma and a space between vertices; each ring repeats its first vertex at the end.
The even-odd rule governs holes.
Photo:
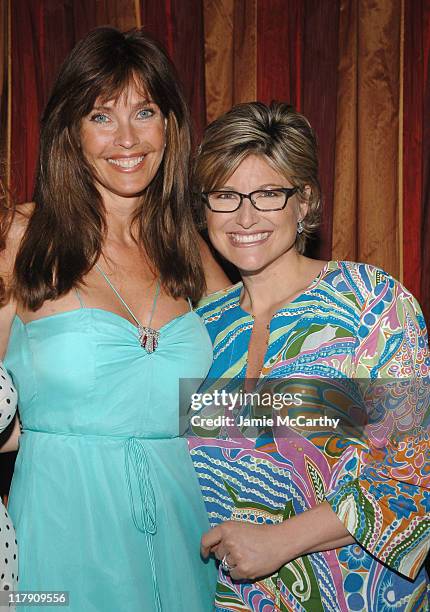
POLYGON ((381 271, 375 281, 353 370, 364 381, 368 452, 358 475, 334 484, 326 499, 357 542, 413 579, 430 542, 428 337, 413 296, 381 271))

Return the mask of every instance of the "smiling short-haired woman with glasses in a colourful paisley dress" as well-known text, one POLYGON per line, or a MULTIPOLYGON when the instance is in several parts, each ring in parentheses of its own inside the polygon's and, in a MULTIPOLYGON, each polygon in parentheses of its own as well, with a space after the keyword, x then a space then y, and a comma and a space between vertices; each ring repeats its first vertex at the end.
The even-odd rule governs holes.
POLYGON ((198 308, 214 346, 201 391, 226 391, 206 396, 189 441, 216 609, 428 609, 417 302, 374 266, 304 255, 318 158, 291 106, 247 103, 214 121, 194 177, 212 244, 242 277, 198 308))

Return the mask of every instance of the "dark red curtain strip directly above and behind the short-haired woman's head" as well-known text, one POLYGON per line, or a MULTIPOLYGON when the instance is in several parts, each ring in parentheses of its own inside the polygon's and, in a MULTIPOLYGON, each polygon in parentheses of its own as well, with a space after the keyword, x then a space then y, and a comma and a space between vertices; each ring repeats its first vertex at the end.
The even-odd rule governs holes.
POLYGON ((337 0, 258 3, 257 98, 290 101, 308 117, 318 137, 324 215, 311 254, 322 259, 331 257, 338 21, 337 0))

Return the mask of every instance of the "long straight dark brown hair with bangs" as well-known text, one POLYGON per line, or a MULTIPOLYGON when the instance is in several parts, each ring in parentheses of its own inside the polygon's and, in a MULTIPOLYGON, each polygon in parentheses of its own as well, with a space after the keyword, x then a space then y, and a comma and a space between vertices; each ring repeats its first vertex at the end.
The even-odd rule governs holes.
POLYGON ((166 149, 133 217, 138 243, 173 297, 197 300, 204 275, 189 199, 190 127, 175 69, 143 30, 97 28, 66 58, 42 117, 35 208, 15 265, 15 294, 32 310, 78 284, 100 256, 105 210, 80 149, 80 124, 97 99, 135 82, 166 118, 166 149))

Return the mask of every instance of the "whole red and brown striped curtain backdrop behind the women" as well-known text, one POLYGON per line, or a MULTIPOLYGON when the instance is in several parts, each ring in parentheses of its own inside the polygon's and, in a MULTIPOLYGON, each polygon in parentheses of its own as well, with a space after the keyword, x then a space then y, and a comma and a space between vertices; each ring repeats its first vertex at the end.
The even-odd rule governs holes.
POLYGON ((177 66, 197 137, 240 101, 288 100, 309 117, 324 195, 313 254, 381 265, 430 316, 430 0, 0 1, 17 199, 32 196, 39 118, 65 55, 97 25, 144 25, 177 66))

